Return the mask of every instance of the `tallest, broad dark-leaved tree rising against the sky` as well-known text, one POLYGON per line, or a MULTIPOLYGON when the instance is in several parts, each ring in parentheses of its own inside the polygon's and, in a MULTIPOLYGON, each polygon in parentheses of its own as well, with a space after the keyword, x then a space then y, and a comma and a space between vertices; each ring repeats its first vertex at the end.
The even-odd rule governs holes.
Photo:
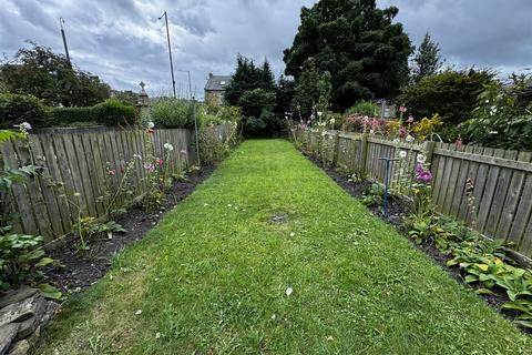
POLYGON ((408 81, 412 47, 398 9, 377 9, 375 0, 320 0, 301 9, 301 23, 285 50, 285 73, 299 81, 305 62, 331 74, 332 104, 345 110, 361 99, 396 95, 408 81))

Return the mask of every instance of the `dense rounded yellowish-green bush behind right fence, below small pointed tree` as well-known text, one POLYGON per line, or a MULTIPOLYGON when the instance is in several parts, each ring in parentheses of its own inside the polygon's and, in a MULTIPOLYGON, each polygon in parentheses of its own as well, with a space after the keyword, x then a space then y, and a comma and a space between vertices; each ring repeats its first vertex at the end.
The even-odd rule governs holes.
POLYGON ((471 118, 478 95, 492 79, 493 74, 487 71, 449 70, 406 88, 398 102, 416 119, 439 113, 443 121, 442 135, 454 140, 460 133, 457 126, 471 118))

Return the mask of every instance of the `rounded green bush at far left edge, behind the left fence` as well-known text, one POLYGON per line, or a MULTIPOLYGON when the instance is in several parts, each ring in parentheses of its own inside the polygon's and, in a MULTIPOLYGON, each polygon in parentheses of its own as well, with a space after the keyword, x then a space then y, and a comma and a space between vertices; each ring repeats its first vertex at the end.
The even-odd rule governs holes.
POLYGON ((51 109, 42 100, 27 94, 0 93, 0 129, 29 122, 34 128, 47 126, 51 109))

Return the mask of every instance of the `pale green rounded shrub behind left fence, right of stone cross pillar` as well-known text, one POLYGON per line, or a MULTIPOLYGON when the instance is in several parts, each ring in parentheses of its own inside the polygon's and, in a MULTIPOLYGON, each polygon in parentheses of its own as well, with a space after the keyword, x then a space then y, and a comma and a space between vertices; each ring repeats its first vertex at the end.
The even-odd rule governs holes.
POLYGON ((150 105, 143 120, 150 120, 162 129, 192 129, 194 128, 192 102, 183 99, 160 99, 150 105))

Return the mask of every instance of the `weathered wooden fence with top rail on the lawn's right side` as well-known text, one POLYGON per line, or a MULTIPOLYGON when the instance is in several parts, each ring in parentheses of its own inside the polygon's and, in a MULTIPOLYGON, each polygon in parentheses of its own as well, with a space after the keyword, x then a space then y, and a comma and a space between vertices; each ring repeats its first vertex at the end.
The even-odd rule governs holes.
MULTIPOLYGON (((297 131, 308 152, 316 152, 318 133, 297 131)), ((393 142, 360 133, 326 132, 323 158, 379 182, 385 180, 385 163, 379 158, 407 159, 393 163, 391 185, 398 171, 413 173, 419 153, 431 163, 432 199, 439 212, 454 216, 491 239, 511 242, 519 253, 532 257, 532 152, 518 152, 434 142, 393 142), (475 207, 471 209, 466 182, 472 179, 475 207)))

